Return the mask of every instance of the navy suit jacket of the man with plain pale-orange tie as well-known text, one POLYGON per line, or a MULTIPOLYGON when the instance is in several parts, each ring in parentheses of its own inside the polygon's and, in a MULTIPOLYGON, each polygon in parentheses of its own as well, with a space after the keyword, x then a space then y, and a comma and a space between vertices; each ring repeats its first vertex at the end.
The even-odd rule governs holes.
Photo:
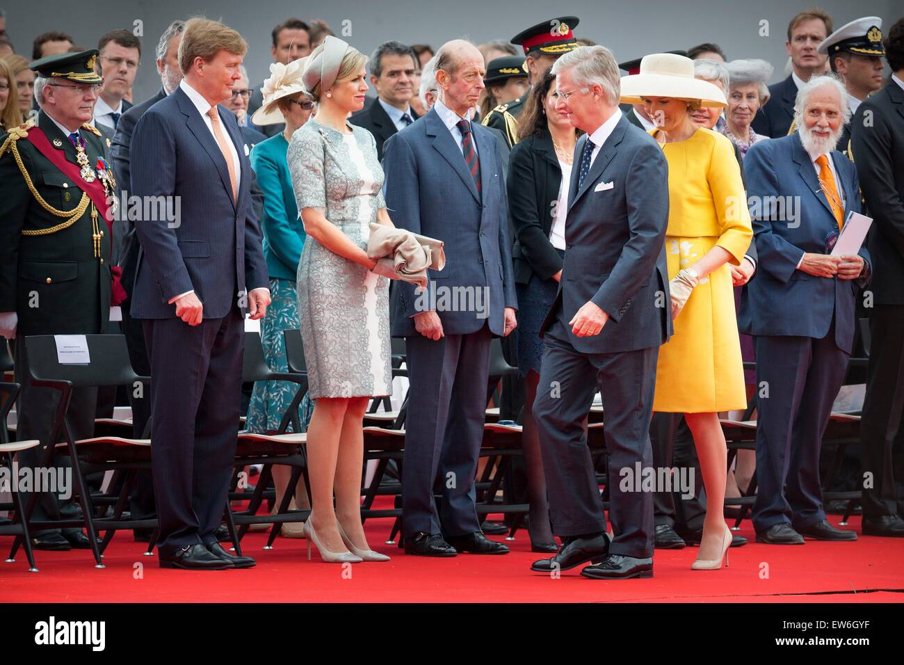
MULTIPOLYGON (((138 120, 132 136, 132 193, 179 197, 177 224, 139 216, 133 318, 174 318, 168 300, 194 290, 204 318, 223 318, 241 294, 268 286, 258 216, 251 201, 254 172, 235 116, 218 107, 239 153, 238 201, 226 161, 184 90, 176 89, 138 120), (170 228, 174 226, 174 228, 170 228)), ((143 199, 147 200, 147 199, 143 199)), ((163 199, 162 199, 163 200, 163 199)))

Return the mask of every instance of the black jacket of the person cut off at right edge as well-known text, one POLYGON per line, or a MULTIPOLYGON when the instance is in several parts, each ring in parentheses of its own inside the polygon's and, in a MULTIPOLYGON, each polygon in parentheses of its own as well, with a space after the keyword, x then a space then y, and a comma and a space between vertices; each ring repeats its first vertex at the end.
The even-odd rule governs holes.
POLYGON ((874 302, 904 305, 904 90, 890 81, 865 100, 851 132, 853 163, 873 218, 867 246, 874 302))

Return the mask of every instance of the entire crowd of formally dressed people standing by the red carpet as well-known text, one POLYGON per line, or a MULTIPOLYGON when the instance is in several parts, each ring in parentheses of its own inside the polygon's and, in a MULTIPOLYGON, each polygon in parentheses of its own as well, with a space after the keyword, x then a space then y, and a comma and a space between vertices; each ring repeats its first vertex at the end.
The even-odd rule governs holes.
MULTIPOLYGON (((244 318, 259 319, 280 373, 283 331, 300 329, 309 486, 289 487, 285 467, 273 480, 277 505, 288 493, 311 513, 282 533, 325 561, 386 561, 361 522, 363 417, 392 394, 401 337, 404 551, 504 555, 475 491, 499 337, 518 369, 501 404, 522 425, 518 491, 532 550, 548 555, 532 570, 649 577, 655 548, 688 544, 692 569, 716 570, 746 543, 725 498, 752 491, 754 474, 758 543, 857 539, 827 518, 820 457, 866 347, 850 461, 871 479, 856 488, 862 533, 904 536, 904 19, 887 34, 881 23, 834 30, 822 10, 796 14, 790 69, 769 86, 766 60, 727 60, 715 43, 619 63, 579 38, 576 16, 509 42, 388 41, 370 57, 291 18, 261 82, 240 33, 194 17, 160 36, 161 87, 137 103, 133 33, 90 49, 43 33, 30 60, 0 58, 0 334, 23 386, 17 436, 46 447, 58 399, 32 384, 25 337, 125 335, 151 377, 129 397, 153 451, 133 517, 158 520, 161 566, 255 565, 219 545, 236 423, 275 432, 297 387, 259 382, 242 404, 244 318), (180 220, 118 214, 124 192, 178 201, 180 220), (860 214, 868 241, 833 252, 860 214), (379 251, 377 236, 390 239, 379 251), (433 241, 444 264, 424 264, 433 241), (443 304, 464 293, 480 307, 443 304), (608 519, 587 445, 598 393, 608 519), (756 450, 729 469, 722 419, 749 407, 756 450), (676 465, 702 488, 618 481, 676 465)), ((114 399, 74 389, 75 438, 114 399)), ((47 495, 32 518, 78 514, 47 495)), ((92 546, 75 527, 33 545, 92 546)))

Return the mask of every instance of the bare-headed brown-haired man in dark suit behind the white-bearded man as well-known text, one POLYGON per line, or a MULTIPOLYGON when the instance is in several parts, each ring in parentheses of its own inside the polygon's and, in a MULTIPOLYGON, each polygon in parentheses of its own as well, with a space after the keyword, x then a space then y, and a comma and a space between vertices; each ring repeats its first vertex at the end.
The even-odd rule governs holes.
POLYGON ((817 49, 830 33, 832 16, 822 9, 806 9, 791 19, 785 50, 791 57, 792 70, 785 81, 769 86, 769 100, 753 119, 755 132, 772 138, 787 135, 794 119, 797 90, 811 76, 825 71, 828 56, 817 49))

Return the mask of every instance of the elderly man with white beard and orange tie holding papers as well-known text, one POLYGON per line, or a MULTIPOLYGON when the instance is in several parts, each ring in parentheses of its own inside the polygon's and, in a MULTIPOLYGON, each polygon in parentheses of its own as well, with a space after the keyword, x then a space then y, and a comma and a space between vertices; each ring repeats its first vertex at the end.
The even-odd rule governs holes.
POLYGON ((842 385, 857 286, 869 253, 831 256, 847 215, 860 212, 857 172, 835 149, 851 112, 843 85, 817 76, 797 92, 797 132, 763 141, 744 159, 758 278, 741 299, 739 327, 754 336, 759 387, 757 542, 856 540, 829 524, 819 451, 842 385))

